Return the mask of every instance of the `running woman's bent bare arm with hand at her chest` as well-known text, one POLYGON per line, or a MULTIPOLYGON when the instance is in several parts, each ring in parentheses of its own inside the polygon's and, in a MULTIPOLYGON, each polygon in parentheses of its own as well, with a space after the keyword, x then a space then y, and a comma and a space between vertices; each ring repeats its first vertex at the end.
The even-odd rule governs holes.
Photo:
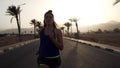
POLYGON ((54 38, 53 36, 54 34, 50 35, 50 39, 52 40, 52 42, 55 44, 55 46, 57 48, 59 48, 60 50, 63 50, 63 36, 62 36, 62 32, 60 29, 56 30, 56 36, 57 36, 57 40, 54 38))

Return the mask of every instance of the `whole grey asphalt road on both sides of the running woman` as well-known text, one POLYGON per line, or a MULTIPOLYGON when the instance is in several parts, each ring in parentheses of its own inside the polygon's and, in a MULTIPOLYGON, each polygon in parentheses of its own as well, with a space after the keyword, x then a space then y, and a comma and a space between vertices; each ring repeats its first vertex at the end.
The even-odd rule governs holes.
MULTIPOLYGON (((0 55, 0 68, 38 68, 39 41, 0 55)), ((120 68, 120 55, 64 39, 60 68, 120 68)))

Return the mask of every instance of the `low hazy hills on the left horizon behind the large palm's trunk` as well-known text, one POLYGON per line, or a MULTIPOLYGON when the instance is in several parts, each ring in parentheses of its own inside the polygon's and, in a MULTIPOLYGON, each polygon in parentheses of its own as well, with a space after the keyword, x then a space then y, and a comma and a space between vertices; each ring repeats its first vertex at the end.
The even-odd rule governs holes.
MULTIPOLYGON (((26 34, 30 34, 32 31, 33 33, 33 28, 22 28, 21 29, 21 33, 26 33, 26 34)), ((4 33, 18 33, 18 29, 7 29, 4 31, 0 31, 0 34, 4 34, 4 33)))

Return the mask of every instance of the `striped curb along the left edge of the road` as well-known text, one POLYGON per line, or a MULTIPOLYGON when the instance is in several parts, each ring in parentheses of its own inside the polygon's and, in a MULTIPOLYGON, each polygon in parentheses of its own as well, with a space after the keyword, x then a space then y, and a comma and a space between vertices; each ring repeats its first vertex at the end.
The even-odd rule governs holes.
POLYGON ((28 41, 24 41, 24 42, 19 42, 19 43, 16 43, 16 44, 12 44, 12 45, 8 45, 8 46, 4 46, 4 47, 0 47, 0 55, 1 54, 4 54, 10 50, 13 50, 15 48, 19 48, 19 47, 22 47, 22 46, 25 46, 31 42, 34 42, 34 41, 37 41, 39 39, 33 39, 33 40, 28 40, 28 41))

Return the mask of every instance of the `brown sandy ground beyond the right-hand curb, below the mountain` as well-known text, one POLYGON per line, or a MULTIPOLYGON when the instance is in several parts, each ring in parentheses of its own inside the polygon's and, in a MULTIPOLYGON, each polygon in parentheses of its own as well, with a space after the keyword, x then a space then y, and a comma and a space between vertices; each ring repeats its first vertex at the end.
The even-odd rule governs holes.
POLYGON ((120 47, 120 33, 80 35, 80 39, 120 47))

